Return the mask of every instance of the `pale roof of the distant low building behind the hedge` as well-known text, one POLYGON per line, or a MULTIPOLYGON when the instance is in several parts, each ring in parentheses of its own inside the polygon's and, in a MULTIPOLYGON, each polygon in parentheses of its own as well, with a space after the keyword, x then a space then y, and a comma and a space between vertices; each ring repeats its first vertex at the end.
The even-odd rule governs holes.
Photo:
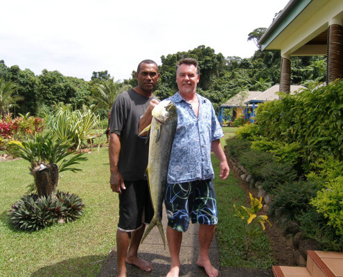
MULTIPOLYGON (((290 93, 295 93, 299 91, 299 89, 306 89, 303 86, 290 86, 290 93)), ((240 93, 237 93, 236 96, 231 97, 227 102, 220 105, 220 107, 240 107, 245 105, 247 102, 265 102, 265 101, 272 101, 275 99, 279 99, 279 95, 277 92, 280 91, 279 84, 275 84, 274 86, 270 87, 265 91, 247 91, 247 96, 243 99, 240 93)))

